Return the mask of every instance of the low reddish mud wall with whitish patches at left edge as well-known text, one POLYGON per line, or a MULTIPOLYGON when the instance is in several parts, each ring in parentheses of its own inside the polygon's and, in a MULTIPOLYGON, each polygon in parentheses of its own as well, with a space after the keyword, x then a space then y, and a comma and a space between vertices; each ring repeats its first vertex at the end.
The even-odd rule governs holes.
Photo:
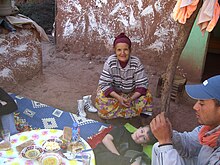
POLYGON ((8 32, 0 27, 0 86, 17 84, 42 72, 39 33, 28 26, 8 32))

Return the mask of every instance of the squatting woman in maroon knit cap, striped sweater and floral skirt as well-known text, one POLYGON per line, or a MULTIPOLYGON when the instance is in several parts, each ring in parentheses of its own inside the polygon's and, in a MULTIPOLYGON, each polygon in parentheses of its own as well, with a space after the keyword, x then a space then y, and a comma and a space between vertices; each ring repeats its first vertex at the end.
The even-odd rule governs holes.
POLYGON ((140 60, 131 56, 131 41, 121 33, 114 40, 115 54, 104 64, 96 96, 102 119, 132 118, 152 112, 148 77, 140 60))

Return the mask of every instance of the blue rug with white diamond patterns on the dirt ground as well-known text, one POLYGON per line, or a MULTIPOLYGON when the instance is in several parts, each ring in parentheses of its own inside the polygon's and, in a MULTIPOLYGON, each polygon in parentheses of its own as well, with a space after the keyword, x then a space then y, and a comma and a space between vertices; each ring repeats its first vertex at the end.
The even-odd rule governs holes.
POLYGON ((16 94, 10 95, 18 105, 18 110, 15 112, 15 121, 19 131, 63 129, 65 126, 72 127, 73 122, 77 122, 80 127, 80 136, 86 140, 109 126, 16 94))

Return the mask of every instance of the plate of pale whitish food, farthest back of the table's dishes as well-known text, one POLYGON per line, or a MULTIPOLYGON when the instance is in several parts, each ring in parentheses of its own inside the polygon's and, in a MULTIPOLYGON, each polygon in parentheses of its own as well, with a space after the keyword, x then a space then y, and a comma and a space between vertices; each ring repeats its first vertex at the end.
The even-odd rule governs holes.
POLYGON ((48 139, 43 142, 42 147, 47 152, 56 152, 60 150, 60 145, 62 143, 60 139, 48 139))

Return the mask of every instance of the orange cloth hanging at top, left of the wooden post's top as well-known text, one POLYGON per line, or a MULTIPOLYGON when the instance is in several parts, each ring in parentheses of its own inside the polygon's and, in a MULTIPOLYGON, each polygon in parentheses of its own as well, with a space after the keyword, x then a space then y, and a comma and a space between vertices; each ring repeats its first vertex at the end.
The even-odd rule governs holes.
POLYGON ((196 10, 199 0, 177 0, 172 17, 175 21, 185 24, 186 20, 196 10))

